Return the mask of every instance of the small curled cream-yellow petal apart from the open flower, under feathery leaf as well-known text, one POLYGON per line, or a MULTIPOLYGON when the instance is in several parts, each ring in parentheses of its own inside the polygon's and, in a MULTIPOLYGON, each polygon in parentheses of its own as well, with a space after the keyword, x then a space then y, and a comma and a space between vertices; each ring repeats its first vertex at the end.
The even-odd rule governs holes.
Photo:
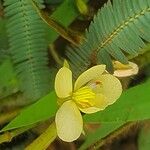
POLYGON ((139 71, 137 64, 132 62, 129 62, 128 65, 123 65, 120 62, 116 62, 116 64, 118 64, 118 68, 116 67, 116 70, 114 71, 114 76, 116 77, 129 77, 136 75, 139 71))

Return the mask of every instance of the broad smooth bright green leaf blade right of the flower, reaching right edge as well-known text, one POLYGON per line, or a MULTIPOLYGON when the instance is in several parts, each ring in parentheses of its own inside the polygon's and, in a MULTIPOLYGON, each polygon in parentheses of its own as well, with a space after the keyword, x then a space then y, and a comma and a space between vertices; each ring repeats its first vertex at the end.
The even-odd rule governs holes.
POLYGON ((123 92, 116 103, 104 111, 84 116, 86 122, 115 122, 150 119, 150 80, 123 92))

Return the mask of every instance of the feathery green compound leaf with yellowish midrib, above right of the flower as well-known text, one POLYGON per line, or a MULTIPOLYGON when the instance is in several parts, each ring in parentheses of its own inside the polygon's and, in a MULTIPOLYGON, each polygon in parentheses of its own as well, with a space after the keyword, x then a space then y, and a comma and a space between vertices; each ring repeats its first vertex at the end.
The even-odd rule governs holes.
POLYGON ((69 48, 67 57, 75 78, 93 63, 104 63, 112 71, 112 58, 128 63, 125 53, 138 55, 150 41, 150 0, 113 0, 94 17, 79 47, 69 48))

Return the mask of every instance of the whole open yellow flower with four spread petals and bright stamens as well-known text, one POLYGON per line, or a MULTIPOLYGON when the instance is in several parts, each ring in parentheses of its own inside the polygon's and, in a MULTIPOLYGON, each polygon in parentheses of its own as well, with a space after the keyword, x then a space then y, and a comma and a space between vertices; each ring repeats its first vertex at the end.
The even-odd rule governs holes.
POLYGON ((55 91, 62 101, 55 117, 57 134, 66 142, 76 140, 82 133, 80 113, 95 113, 113 104, 122 93, 120 81, 105 71, 105 65, 83 72, 72 85, 72 72, 62 67, 55 78, 55 91))

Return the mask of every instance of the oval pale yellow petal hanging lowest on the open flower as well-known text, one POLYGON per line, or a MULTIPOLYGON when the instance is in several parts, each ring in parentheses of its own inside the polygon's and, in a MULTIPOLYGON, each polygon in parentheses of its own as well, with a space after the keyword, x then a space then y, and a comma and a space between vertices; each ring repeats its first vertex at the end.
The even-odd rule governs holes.
POLYGON ((56 113, 55 122, 58 137, 63 141, 72 142, 82 133, 82 116, 72 100, 64 102, 59 108, 56 113))

